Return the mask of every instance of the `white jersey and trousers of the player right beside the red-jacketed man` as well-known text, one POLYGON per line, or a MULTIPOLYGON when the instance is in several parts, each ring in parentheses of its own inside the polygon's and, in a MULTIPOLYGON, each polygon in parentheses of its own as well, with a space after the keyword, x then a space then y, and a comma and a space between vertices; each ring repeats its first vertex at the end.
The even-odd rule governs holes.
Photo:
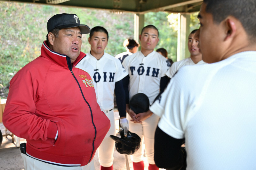
POLYGON ((97 98, 111 123, 110 129, 98 149, 100 165, 109 167, 113 164, 115 149, 115 141, 109 137, 116 135, 113 111, 115 83, 122 80, 128 73, 120 60, 108 53, 104 53, 100 60, 93 57, 91 53, 86 55, 79 65, 83 65, 84 69, 93 77, 97 98))

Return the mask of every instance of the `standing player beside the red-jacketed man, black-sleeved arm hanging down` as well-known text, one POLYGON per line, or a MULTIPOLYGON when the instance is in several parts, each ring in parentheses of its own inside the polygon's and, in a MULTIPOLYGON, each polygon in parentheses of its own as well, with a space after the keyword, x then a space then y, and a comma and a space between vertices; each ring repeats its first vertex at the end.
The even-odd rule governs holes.
POLYGON ((80 62, 80 65, 83 65, 84 69, 92 75, 97 98, 111 123, 110 129, 98 149, 100 169, 113 170, 115 141, 109 136, 116 135, 113 110, 114 91, 120 115, 120 124, 125 133, 127 133, 129 125, 126 119, 125 92, 122 79, 128 73, 118 59, 104 52, 108 44, 108 31, 105 28, 101 26, 92 28, 88 41, 91 45, 91 51, 80 62))

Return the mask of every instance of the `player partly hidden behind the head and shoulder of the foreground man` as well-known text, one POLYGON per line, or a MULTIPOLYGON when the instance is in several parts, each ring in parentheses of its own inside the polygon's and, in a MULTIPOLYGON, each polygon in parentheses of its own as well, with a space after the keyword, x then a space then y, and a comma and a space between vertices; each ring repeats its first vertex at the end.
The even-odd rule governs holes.
POLYGON ((173 75, 180 69, 180 67, 205 63, 202 60, 202 53, 198 47, 199 40, 198 38, 195 38, 196 31, 197 29, 193 30, 188 36, 188 50, 190 57, 174 62, 171 68, 165 73, 169 78, 172 78, 173 75))

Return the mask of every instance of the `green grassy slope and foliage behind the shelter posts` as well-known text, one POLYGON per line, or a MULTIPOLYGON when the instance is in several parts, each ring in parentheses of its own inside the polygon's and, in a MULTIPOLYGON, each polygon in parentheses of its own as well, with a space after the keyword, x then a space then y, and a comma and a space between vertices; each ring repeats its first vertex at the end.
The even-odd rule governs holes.
MULTIPOLYGON (((90 28, 100 25, 109 33, 105 52, 115 56, 124 52, 123 41, 133 38, 134 15, 116 14, 110 11, 83 8, 56 7, 51 5, 0 2, 0 96, 7 98, 9 81, 21 67, 40 55, 46 39, 47 21, 57 13, 76 13, 82 24, 90 28)), ((199 27, 197 13, 191 14, 191 31, 199 27)), ((177 14, 149 12, 145 25, 153 24, 159 29, 157 48, 164 47, 168 57, 177 61, 177 14)), ((88 34, 83 35, 82 50, 90 51, 88 34)))

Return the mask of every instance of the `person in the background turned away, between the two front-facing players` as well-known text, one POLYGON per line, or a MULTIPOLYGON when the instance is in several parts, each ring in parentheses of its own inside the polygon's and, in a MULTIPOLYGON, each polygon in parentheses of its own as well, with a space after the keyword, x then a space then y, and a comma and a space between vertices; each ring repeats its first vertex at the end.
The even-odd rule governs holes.
POLYGON ((123 63, 125 57, 128 55, 132 55, 138 51, 140 44, 137 43, 134 39, 125 39, 123 46, 125 47, 126 51, 120 54, 117 54, 115 58, 119 59, 121 63, 123 63))

